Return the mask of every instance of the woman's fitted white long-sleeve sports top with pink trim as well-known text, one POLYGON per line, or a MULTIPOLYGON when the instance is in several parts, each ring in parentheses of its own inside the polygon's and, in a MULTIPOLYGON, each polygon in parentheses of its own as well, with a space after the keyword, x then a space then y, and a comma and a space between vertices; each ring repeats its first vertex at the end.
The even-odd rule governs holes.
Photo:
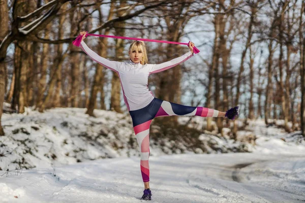
POLYGON ((134 63, 132 60, 119 62, 103 58, 91 50, 84 41, 80 43, 80 47, 90 58, 118 74, 128 111, 142 109, 155 98, 147 85, 150 74, 170 69, 193 56, 192 52, 189 51, 164 63, 142 65, 141 63, 134 63))

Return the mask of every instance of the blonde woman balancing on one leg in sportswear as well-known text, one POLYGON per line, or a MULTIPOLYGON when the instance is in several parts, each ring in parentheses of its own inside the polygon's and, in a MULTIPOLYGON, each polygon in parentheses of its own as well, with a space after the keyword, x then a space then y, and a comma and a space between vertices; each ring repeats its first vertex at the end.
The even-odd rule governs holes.
POLYGON ((227 112, 220 112, 204 107, 188 107, 170 103, 156 98, 148 90, 148 76, 170 69, 171 67, 188 60, 194 55, 194 43, 189 43, 190 51, 186 54, 161 64, 148 64, 145 44, 134 41, 129 48, 129 62, 110 61, 96 54, 84 43, 86 31, 80 32, 82 40, 80 47, 93 60, 116 72, 123 89, 124 101, 131 115, 134 131, 141 152, 140 168, 144 182, 144 191, 141 199, 151 200, 149 189, 149 126, 151 120, 159 116, 201 116, 225 117, 234 120, 239 113, 235 107, 227 112))

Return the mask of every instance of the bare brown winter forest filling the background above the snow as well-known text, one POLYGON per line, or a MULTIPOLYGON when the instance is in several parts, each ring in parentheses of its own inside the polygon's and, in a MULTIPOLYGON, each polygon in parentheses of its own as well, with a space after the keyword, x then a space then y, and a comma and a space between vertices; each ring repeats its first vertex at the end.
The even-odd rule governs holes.
MULTIPOLYGON (((72 42, 80 31, 173 42, 192 41, 192 60, 149 77, 157 98, 220 111, 239 119, 283 120, 305 138, 305 3, 301 0, 1 0, 0 136, 3 113, 35 107, 128 112, 119 77, 72 42), (11 105, 3 112, 3 104, 11 105)), ((87 37, 110 60, 129 60, 129 40, 87 37)), ((188 51, 147 42, 149 63, 188 51)), ((176 118, 171 118, 176 122, 176 118)), ((218 131, 236 121, 215 119, 218 131)))

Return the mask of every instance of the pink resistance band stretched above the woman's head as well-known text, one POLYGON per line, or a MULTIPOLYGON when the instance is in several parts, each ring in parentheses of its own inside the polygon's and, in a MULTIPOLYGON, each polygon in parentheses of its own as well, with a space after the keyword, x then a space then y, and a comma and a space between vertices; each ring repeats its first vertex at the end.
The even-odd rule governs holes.
MULTIPOLYGON (((179 44, 179 45, 188 45, 189 43, 182 43, 182 42, 171 42, 171 41, 163 41, 163 40, 150 40, 150 39, 141 39, 141 38, 128 38, 128 37, 120 37, 120 36, 111 36, 111 35, 96 35, 96 34, 88 34, 86 33, 87 36, 97 36, 97 37, 105 37, 105 38, 116 38, 116 39, 126 39, 126 40, 138 40, 138 41, 147 41, 147 42, 160 42, 160 43, 168 43, 168 44, 179 44)), ((79 47, 80 42, 81 42, 82 36, 79 35, 74 41, 73 45, 79 47)), ((194 53, 197 54, 199 53, 199 49, 196 47, 193 47, 194 53)))

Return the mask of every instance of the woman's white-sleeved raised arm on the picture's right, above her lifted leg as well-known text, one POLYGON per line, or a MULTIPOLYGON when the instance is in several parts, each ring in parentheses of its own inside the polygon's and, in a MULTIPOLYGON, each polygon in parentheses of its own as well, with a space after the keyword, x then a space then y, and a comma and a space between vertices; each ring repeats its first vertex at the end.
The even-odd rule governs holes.
POLYGON ((182 63, 186 60, 188 60, 189 58, 191 58, 194 54, 189 51, 186 54, 179 56, 177 58, 174 58, 170 61, 164 62, 164 63, 160 63, 160 64, 151 64, 151 69, 149 71, 149 74, 153 74, 153 73, 159 73, 161 71, 165 71, 170 69, 173 66, 178 65, 179 63, 182 63))

